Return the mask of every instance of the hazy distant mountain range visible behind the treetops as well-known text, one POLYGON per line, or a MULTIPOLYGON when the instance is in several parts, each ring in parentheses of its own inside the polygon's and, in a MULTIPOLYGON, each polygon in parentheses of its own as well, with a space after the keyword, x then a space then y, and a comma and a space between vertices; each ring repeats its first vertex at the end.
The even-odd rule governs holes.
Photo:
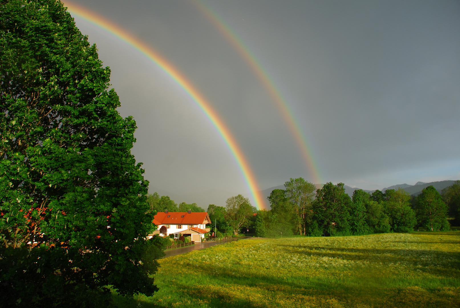
MULTIPOLYGON (((393 185, 390 187, 385 187, 382 188, 381 190, 385 192, 387 189, 398 189, 398 188, 403 188, 405 191, 407 191, 411 195, 418 195, 422 192, 423 188, 426 188, 430 185, 433 185, 434 188, 437 189, 439 193, 441 193, 441 190, 443 188, 446 188, 450 185, 452 185, 455 181, 453 180, 446 180, 446 181, 438 181, 438 182, 430 182, 430 183, 424 183, 424 182, 417 182, 414 185, 409 185, 409 184, 397 184, 393 185)), ((316 188, 322 188, 323 184, 315 184, 316 188)), ((356 187, 350 187, 348 185, 344 185, 345 188, 345 193, 347 193, 350 197, 353 195, 353 192, 356 189, 356 187)), ((274 187, 270 187, 264 190, 259 191, 260 194, 264 197, 264 205, 265 208, 270 208, 270 203, 267 200, 267 197, 270 196, 270 193, 272 192, 273 189, 284 189, 284 185, 278 185, 274 187)), ((237 193, 232 193, 230 191, 225 191, 225 190, 219 190, 219 189, 211 189, 207 190, 204 192, 198 192, 198 193, 189 193, 189 194, 174 194, 171 192, 168 192, 166 190, 158 189, 155 187, 150 187, 150 192, 157 192, 160 196, 169 196, 171 200, 174 200, 177 204, 181 202, 186 202, 186 203, 196 203, 198 206, 200 206, 203 209, 207 209, 208 205, 210 204, 215 204, 219 206, 225 206, 225 200, 230 198, 231 196, 237 195, 237 193)), ((366 190, 363 189, 365 192, 368 192, 369 194, 372 194, 375 190, 366 190)))

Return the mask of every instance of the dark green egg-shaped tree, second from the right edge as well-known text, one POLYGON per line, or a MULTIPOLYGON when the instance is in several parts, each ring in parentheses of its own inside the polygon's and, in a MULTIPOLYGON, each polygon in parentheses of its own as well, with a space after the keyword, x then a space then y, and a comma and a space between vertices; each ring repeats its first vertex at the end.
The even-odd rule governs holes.
POLYGON ((427 230, 449 231, 450 225, 447 221, 448 207, 433 186, 423 188, 417 196, 415 211, 420 226, 427 230))

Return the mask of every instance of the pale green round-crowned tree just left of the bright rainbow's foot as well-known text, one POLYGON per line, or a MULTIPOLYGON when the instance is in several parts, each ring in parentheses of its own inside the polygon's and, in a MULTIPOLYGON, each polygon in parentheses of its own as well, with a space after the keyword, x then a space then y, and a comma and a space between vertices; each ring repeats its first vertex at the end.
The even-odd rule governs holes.
POLYGON ((225 220, 230 226, 233 234, 238 235, 240 228, 249 227, 249 217, 253 215, 253 206, 248 198, 241 194, 230 197, 225 202, 225 220))

